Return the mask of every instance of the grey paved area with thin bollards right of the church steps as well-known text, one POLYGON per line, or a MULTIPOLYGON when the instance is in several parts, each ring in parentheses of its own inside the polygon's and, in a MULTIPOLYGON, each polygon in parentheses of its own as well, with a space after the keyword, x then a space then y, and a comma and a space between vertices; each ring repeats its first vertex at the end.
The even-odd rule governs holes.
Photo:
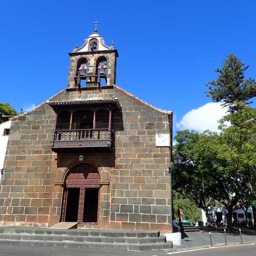
MULTIPOLYGON (((211 231, 212 244, 225 245, 225 236, 222 231, 211 231)), ((256 235, 253 233, 242 233, 243 243, 256 242, 256 235)), ((182 239, 182 247, 176 247, 174 249, 188 249, 195 247, 206 247, 210 246, 210 237, 208 231, 200 232, 187 232, 186 237, 182 239)), ((241 243, 239 233, 227 233, 227 244, 241 243)))

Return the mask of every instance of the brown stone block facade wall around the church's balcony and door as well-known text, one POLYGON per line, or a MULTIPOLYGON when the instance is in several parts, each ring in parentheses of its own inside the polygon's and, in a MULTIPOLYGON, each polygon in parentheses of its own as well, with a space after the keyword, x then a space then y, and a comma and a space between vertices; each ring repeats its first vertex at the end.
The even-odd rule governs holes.
MULTIPOLYGON (((93 164, 101 175, 97 227, 169 230, 169 148, 155 146, 156 132, 169 132, 168 113, 116 86, 88 89, 79 97, 115 96, 122 106, 114 117, 115 151, 85 154, 84 163, 93 164)), ((76 97, 77 92, 68 89, 51 100, 76 97)), ((47 226, 59 221, 62 184, 79 153, 52 152, 55 118, 44 103, 13 119, 0 193, 4 224, 47 226)))

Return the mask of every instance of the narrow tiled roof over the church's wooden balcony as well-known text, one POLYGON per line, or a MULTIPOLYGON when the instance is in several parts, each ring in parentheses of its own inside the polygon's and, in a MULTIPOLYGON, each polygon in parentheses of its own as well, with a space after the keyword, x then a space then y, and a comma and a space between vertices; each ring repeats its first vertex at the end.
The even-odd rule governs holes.
POLYGON ((93 99, 72 99, 63 101, 47 101, 52 108, 59 106, 73 106, 73 105, 95 105, 95 104, 111 104, 118 110, 121 109, 120 103, 117 98, 93 98, 93 99))

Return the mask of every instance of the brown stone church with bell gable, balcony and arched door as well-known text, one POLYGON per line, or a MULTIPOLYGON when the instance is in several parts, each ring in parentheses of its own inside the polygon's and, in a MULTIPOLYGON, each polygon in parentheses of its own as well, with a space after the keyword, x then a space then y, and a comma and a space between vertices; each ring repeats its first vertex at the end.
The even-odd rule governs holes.
POLYGON ((69 55, 67 88, 12 118, 0 224, 170 230, 172 112, 116 85, 96 28, 69 55))

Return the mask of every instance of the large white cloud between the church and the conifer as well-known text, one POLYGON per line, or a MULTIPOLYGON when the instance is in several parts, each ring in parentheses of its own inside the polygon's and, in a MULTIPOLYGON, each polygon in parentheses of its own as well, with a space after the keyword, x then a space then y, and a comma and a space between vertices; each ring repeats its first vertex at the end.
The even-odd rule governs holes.
POLYGON ((220 103, 210 102, 198 109, 188 111, 176 124, 179 130, 194 130, 203 132, 210 130, 218 132, 218 120, 226 115, 227 108, 222 108, 220 103))

